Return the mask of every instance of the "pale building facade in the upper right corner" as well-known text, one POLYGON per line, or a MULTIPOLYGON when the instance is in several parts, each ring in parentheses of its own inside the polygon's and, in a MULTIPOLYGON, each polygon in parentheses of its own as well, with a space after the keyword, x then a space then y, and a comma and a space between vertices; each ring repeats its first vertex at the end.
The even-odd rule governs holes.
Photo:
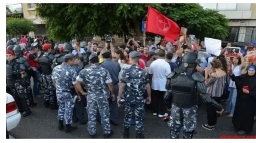
POLYGON ((256 41, 256 3, 200 3, 205 9, 218 10, 229 19, 226 41, 248 43, 256 41))

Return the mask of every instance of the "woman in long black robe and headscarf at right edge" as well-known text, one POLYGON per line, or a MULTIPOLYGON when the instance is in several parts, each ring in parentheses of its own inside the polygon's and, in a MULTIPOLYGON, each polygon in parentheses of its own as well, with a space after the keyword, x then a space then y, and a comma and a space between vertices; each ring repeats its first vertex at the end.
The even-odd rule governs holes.
POLYGON ((233 126, 238 134, 247 134, 253 130, 256 104, 256 67, 250 65, 246 74, 235 76, 230 70, 230 78, 236 82, 237 100, 234 108, 233 126))

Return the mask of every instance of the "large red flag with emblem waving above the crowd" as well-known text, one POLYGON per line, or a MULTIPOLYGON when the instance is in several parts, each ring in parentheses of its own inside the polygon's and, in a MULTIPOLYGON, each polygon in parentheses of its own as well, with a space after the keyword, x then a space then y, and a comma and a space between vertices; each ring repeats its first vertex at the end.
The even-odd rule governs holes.
POLYGON ((179 25, 151 8, 151 6, 148 6, 146 31, 171 39, 177 39, 180 36, 179 25))

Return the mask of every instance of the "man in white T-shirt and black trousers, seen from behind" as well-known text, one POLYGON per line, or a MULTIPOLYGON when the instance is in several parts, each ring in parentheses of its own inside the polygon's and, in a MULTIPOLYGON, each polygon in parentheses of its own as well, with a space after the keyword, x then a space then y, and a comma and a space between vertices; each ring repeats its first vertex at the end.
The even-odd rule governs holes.
POLYGON ((165 61, 165 50, 161 49, 158 52, 158 59, 152 62, 149 69, 150 78, 152 78, 151 95, 153 115, 158 115, 159 118, 168 116, 168 113, 166 113, 166 107, 163 104, 163 95, 166 92, 166 77, 171 72, 170 65, 165 61))

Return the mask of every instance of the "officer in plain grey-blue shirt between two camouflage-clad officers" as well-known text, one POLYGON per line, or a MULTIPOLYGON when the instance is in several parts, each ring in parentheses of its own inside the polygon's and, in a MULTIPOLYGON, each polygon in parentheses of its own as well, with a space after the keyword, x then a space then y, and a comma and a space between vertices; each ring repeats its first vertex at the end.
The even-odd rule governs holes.
MULTIPOLYGON (((103 50, 102 51, 102 57, 104 58, 104 62, 101 63, 99 65, 99 67, 105 68, 106 70, 108 70, 112 82, 113 82, 113 88, 114 88, 114 93, 115 93, 115 97, 118 96, 118 83, 119 83, 119 79, 118 79, 118 75, 119 72, 121 71, 121 67, 120 64, 116 61, 112 61, 111 60, 111 52, 109 50, 103 50)), ((118 108, 118 102, 116 101, 109 101, 110 102, 110 116, 111 116, 111 120, 109 120, 110 123, 114 124, 114 125, 118 125, 119 124, 119 108, 118 108)))

